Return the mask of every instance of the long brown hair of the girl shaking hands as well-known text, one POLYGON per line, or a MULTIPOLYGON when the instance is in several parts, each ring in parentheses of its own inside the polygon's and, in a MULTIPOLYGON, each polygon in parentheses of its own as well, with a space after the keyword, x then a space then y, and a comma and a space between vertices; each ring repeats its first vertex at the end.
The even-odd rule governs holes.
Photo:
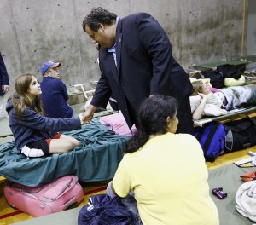
POLYGON ((32 78, 35 78, 33 74, 23 74, 15 79, 15 90, 20 98, 12 96, 12 103, 16 110, 16 115, 21 118, 22 113, 26 107, 32 108, 32 110, 44 115, 43 104, 40 95, 35 95, 34 98, 29 96, 29 85, 32 82, 32 78))

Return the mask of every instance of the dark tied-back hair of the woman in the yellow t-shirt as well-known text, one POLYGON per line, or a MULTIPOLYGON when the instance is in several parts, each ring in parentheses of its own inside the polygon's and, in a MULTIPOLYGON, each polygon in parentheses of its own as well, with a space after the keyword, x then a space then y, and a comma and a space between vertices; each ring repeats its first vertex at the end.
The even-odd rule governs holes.
POLYGON ((177 101, 171 96, 154 95, 143 101, 138 110, 137 132, 125 144, 124 152, 136 152, 150 135, 166 134, 166 119, 173 118, 176 112, 177 101))

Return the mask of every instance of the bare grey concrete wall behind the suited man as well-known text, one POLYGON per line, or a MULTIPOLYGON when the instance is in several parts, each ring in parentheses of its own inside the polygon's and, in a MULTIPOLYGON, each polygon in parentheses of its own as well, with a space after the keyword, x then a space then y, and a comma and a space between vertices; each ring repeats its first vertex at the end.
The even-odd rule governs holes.
POLYGON ((97 51, 81 25, 96 6, 121 17, 139 11, 152 14, 184 68, 241 55, 242 0, 1 0, 0 51, 11 91, 21 73, 35 73, 40 80, 44 61, 61 61, 65 84, 84 83, 91 89, 90 81, 100 76, 97 51))

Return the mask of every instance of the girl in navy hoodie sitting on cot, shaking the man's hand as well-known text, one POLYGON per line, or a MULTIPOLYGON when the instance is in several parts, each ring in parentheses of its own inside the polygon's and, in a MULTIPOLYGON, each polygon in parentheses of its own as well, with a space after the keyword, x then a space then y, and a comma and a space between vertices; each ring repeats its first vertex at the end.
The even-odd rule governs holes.
POLYGON ((20 75, 15 80, 16 93, 9 98, 6 111, 15 146, 27 157, 41 157, 49 153, 67 153, 80 142, 72 136, 56 131, 69 131, 89 123, 83 113, 78 118, 47 118, 41 101, 41 88, 32 74, 20 75))

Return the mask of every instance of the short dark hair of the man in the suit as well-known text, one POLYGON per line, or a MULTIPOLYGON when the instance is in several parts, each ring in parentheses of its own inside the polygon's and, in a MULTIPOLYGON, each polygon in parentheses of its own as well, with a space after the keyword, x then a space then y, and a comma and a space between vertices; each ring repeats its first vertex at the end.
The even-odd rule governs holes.
POLYGON ((85 25, 90 27, 90 30, 96 32, 100 28, 100 24, 112 25, 116 20, 117 15, 108 12, 102 7, 92 8, 83 21, 83 30, 85 32, 85 25))

